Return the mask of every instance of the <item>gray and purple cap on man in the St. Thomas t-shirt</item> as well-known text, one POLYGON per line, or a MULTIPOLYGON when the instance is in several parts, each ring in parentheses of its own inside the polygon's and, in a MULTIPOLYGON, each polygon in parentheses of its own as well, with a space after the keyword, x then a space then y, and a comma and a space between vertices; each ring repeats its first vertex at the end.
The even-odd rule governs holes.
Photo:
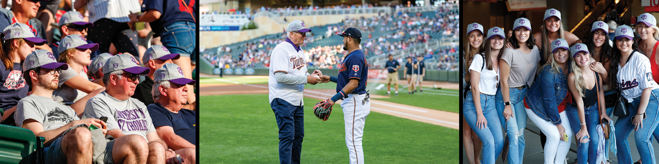
POLYGON ((140 75, 146 75, 151 71, 149 68, 137 65, 137 60, 130 56, 130 54, 117 54, 108 58, 107 62, 103 64, 103 74, 118 70, 140 75))

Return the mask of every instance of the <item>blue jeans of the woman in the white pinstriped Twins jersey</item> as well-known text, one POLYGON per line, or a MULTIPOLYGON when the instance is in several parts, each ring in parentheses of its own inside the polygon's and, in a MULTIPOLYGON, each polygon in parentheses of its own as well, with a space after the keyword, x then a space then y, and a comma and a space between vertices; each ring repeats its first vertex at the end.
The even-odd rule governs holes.
MULTIPOLYGON (((640 98, 634 99, 633 102, 627 105, 627 109, 629 109, 629 116, 618 117, 616 121, 616 146, 618 163, 633 163, 631 159, 631 152, 629 152, 627 136, 629 136, 629 133, 634 131, 634 124, 632 123, 631 117, 637 113, 640 104, 640 98)), ((654 149, 652 148, 651 139, 653 133, 656 134, 659 132, 656 131, 657 126, 659 125, 659 119, 657 117, 658 110, 659 89, 654 89, 652 90, 652 94, 650 94, 650 100, 645 109, 646 119, 643 119, 643 128, 634 131, 636 148, 639 150, 639 154, 641 155, 641 160, 643 160, 643 163, 656 163, 654 159, 654 149)), ((639 115, 639 117, 642 116, 639 115)))

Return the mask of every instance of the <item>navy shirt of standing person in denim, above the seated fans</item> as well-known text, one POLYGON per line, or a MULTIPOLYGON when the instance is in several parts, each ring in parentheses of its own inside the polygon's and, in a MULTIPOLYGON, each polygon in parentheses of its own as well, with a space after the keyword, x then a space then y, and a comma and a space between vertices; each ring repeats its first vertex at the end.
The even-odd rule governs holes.
POLYGON ((150 23, 151 27, 154 30, 154 33, 160 34, 163 28, 180 21, 187 21, 194 23, 194 18, 197 17, 194 10, 196 10, 195 5, 198 1, 195 0, 146 0, 144 4, 144 10, 158 10, 161 15, 158 20, 150 23), (187 7, 185 7, 185 5, 187 7), (192 15, 194 18, 192 18, 192 15))

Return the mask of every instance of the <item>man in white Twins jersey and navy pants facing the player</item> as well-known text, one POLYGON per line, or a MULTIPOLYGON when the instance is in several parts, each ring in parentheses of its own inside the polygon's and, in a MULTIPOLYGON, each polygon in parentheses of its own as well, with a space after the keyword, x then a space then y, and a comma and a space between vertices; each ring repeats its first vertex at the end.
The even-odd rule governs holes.
POLYGON ((304 138, 304 85, 316 85, 321 72, 309 74, 300 45, 306 39, 304 23, 295 20, 286 28, 287 39, 279 43, 270 54, 268 89, 270 107, 275 112, 279 127, 279 163, 300 163, 304 138), (318 76, 315 76, 318 75, 318 76), (314 77, 315 76, 315 77, 314 77))

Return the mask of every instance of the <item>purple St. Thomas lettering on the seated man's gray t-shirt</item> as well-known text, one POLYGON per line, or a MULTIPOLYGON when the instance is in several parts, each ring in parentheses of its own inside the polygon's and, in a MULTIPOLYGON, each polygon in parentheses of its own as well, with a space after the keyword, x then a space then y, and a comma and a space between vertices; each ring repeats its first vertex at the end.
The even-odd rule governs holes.
MULTIPOLYGON (((115 110, 117 110, 115 108, 115 110)), ((146 122, 146 115, 142 108, 134 110, 117 110, 117 125, 121 131, 146 131, 148 123, 146 122)))

